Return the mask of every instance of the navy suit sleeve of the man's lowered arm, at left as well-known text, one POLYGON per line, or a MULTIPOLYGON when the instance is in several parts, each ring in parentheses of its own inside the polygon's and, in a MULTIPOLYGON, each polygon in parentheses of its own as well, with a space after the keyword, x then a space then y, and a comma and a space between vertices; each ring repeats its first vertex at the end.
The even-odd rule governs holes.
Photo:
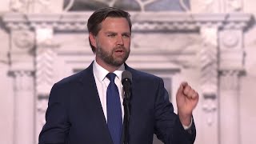
POLYGON ((39 144, 64 144, 70 128, 68 120, 68 93, 63 86, 53 86, 50 91, 46 124, 39 134, 39 144))

